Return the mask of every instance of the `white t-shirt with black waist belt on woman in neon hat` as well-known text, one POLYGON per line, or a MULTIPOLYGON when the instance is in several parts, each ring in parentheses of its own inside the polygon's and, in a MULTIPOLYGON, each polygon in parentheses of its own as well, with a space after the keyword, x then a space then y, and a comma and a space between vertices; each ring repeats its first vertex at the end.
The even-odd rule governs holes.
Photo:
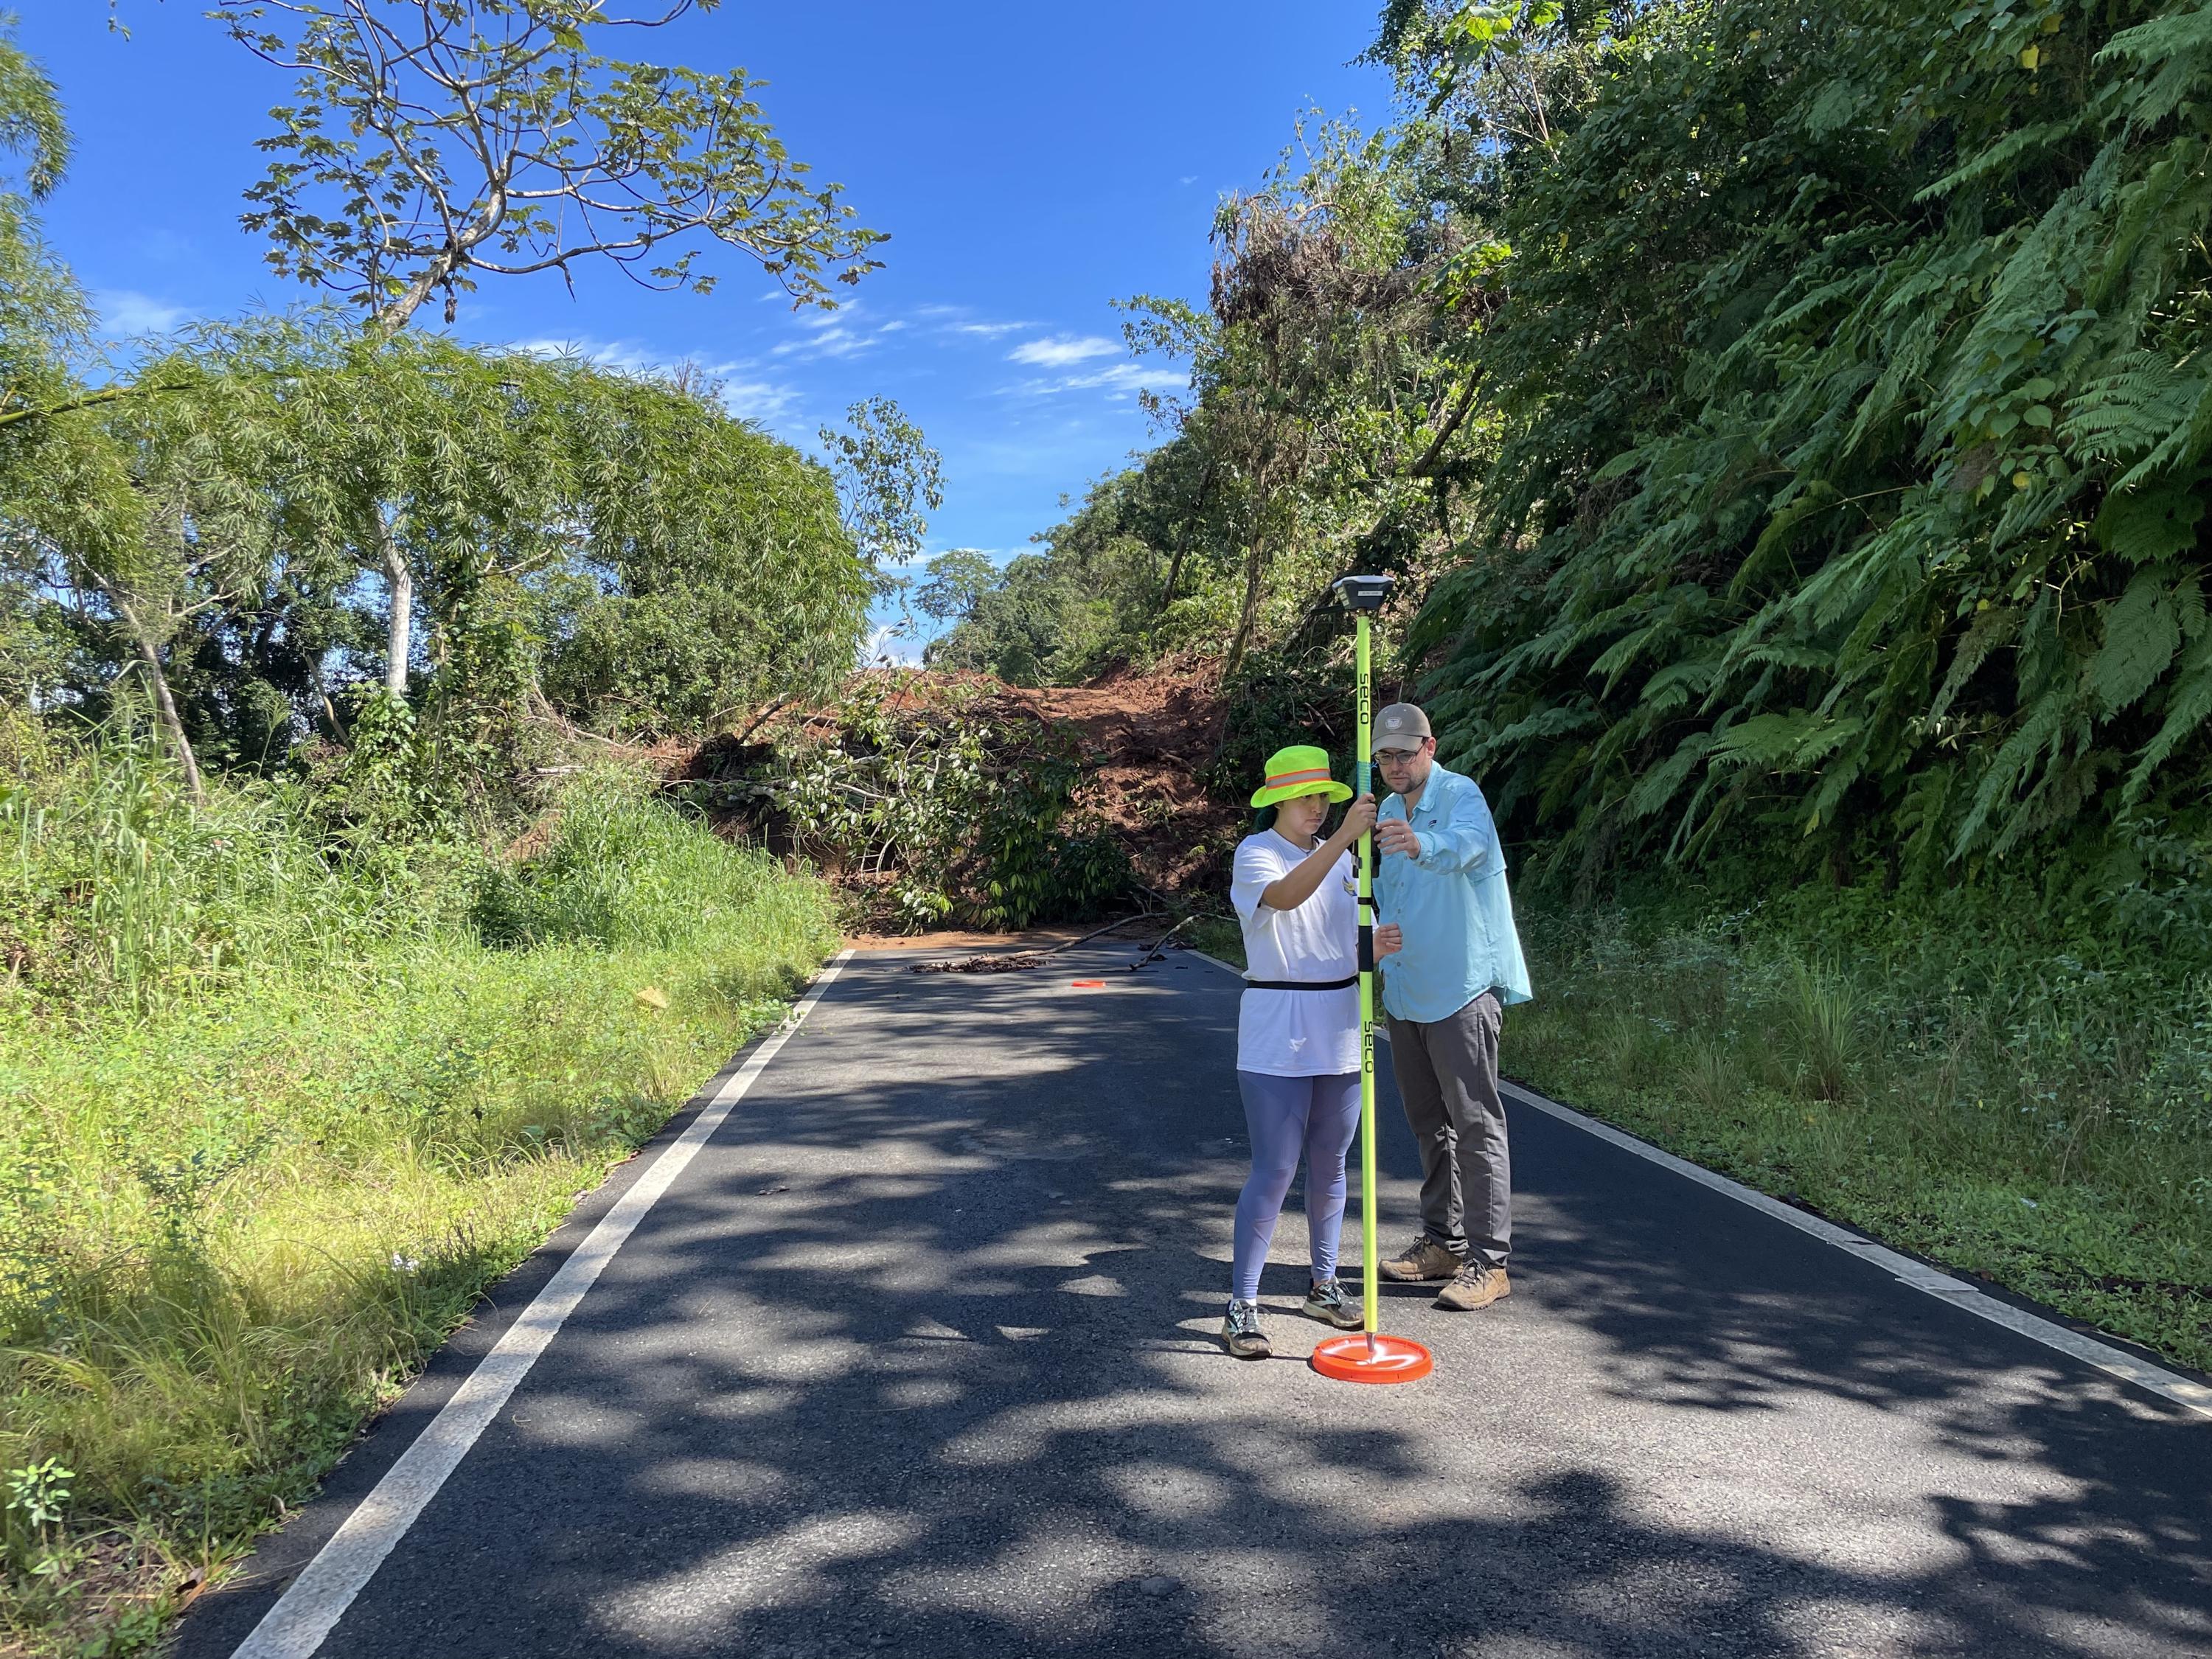
MULTIPOLYGON (((1245 931, 1250 980, 1343 980, 1360 971, 1360 911, 1352 854, 1321 878, 1298 909, 1267 909, 1259 896, 1310 852, 1263 830, 1237 843, 1230 905, 1245 931)), ((1237 1071, 1270 1077, 1340 1077, 1360 1068, 1360 989, 1245 991, 1237 1009, 1237 1071)))

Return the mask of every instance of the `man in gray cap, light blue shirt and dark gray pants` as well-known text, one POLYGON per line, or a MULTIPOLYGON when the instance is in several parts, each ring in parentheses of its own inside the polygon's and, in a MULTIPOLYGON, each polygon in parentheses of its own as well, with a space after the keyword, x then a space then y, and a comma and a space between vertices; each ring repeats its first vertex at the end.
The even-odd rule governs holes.
POLYGON ((1420 1141, 1420 1237, 1385 1279, 1449 1281, 1438 1307, 1511 1296, 1513 1159, 1498 1095, 1500 1009, 1526 1002, 1506 856, 1471 779, 1436 763, 1429 717, 1391 703, 1374 757, 1394 792, 1376 823, 1376 909, 1402 947, 1383 967, 1391 1071, 1420 1141))

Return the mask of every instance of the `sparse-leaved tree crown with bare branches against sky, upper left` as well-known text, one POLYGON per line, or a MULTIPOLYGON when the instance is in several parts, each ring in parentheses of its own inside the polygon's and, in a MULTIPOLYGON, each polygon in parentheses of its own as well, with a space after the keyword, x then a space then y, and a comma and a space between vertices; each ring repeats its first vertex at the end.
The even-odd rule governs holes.
POLYGON ((874 270, 880 237, 849 223, 836 186, 805 181, 754 82, 586 46, 714 4, 217 0, 248 51, 301 75, 261 142, 274 159, 246 226, 270 237, 276 270, 349 294, 383 332, 438 292, 451 321, 476 272, 573 279, 608 259, 648 288, 708 292, 695 261, 710 241, 794 303, 830 305, 827 276, 874 270), (657 252, 670 243, 692 246, 657 252))

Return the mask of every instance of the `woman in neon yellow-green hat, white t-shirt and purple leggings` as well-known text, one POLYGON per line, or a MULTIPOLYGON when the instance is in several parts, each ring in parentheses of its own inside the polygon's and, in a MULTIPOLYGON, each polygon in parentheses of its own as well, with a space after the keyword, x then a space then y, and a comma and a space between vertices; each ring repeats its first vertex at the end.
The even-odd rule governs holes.
MULTIPOLYGON (((1241 1360, 1272 1349, 1259 1327, 1259 1270, 1274 1221, 1305 1157, 1305 1228, 1314 1276, 1305 1310, 1338 1329, 1360 1327, 1360 1307, 1336 1283, 1345 1221, 1345 1150, 1360 1124, 1358 885, 1352 845, 1374 827, 1374 796, 1352 801, 1336 834, 1321 830, 1352 790, 1329 776, 1329 757, 1298 743, 1267 757, 1252 794, 1256 834, 1237 847, 1230 902, 1243 922, 1245 993, 1237 1011, 1237 1088, 1252 1139, 1252 1175, 1237 1199, 1237 1252, 1221 1345, 1241 1360)), ((1398 949, 1398 929, 1376 929, 1376 956, 1398 949)))

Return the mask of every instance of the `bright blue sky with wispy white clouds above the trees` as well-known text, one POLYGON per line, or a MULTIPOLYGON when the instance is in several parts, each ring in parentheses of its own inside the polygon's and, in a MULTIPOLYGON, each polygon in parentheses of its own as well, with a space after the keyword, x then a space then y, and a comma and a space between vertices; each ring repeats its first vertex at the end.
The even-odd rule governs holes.
MULTIPOLYGON (((303 299, 261 263, 239 195, 288 77, 192 0, 18 0, 20 40, 62 86, 71 173, 51 241, 119 332, 303 299)), ((591 272, 487 279, 458 332, 573 343, 617 365, 692 358, 734 409, 792 442, 856 398, 891 396, 945 453, 929 546, 1020 551, 1152 440, 1135 387, 1172 367, 1121 349, 1110 301, 1203 299, 1221 192, 1252 188, 1298 113, 1380 117, 1354 66, 1380 0, 1121 4, 752 4, 619 49, 765 77, 759 100, 860 223, 885 270, 836 314, 799 312, 717 250, 712 296, 591 272)))

